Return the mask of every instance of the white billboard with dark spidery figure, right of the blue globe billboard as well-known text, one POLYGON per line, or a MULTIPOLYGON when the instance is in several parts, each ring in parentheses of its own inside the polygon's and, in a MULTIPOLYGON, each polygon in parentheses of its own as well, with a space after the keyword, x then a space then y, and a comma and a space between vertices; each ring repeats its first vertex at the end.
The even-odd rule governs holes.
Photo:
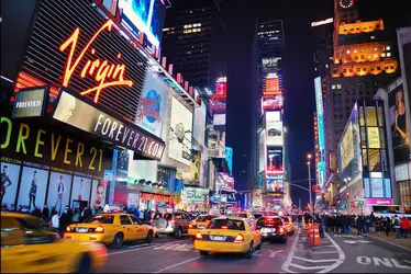
POLYGON ((192 114, 173 98, 168 157, 190 165, 192 114))

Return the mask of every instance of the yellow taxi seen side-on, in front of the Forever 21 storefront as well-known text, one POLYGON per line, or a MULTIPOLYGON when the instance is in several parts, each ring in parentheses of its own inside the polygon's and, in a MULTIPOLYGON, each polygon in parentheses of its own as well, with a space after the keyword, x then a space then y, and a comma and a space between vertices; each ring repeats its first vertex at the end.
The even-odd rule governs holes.
POLYGON ((88 217, 81 224, 73 224, 64 233, 65 239, 92 241, 120 248, 123 241, 145 240, 152 242, 155 228, 144 225, 130 214, 103 213, 88 217))

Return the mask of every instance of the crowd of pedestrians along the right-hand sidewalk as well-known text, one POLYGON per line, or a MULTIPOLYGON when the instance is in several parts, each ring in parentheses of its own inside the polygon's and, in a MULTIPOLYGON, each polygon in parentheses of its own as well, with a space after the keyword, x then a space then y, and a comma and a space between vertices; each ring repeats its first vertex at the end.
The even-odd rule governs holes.
POLYGON ((396 232, 397 238, 408 238, 410 232, 410 219, 402 216, 395 215, 390 217, 376 217, 374 213, 368 216, 363 215, 318 215, 313 217, 306 213, 299 217, 299 222, 306 224, 316 222, 319 224, 320 237, 324 237, 324 231, 349 235, 353 228, 356 228, 357 235, 368 235, 369 232, 385 231, 387 236, 391 231, 396 232))

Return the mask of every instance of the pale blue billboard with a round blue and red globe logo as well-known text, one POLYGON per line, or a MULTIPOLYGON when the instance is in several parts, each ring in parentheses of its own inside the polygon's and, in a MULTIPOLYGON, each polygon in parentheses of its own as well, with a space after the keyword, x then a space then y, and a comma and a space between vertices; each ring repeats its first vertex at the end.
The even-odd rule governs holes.
POLYGON ((136 125, 160 137, 167 109, 168 85, 155 72, 148 71, 140 98, 136 125))

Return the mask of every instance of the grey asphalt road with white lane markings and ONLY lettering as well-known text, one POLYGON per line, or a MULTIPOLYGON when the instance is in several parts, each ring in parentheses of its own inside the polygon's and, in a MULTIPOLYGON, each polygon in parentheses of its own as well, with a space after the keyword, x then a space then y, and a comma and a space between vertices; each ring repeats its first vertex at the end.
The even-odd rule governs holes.
POLYGON ((411 252, 377 239, 327 233, 312 247, 307 230, 288 242, 264 242, 253 259, 236 254, 200 256, 192 240, 163 236, 153 243, 109 250, 104 273, 410 273, 411 252))

